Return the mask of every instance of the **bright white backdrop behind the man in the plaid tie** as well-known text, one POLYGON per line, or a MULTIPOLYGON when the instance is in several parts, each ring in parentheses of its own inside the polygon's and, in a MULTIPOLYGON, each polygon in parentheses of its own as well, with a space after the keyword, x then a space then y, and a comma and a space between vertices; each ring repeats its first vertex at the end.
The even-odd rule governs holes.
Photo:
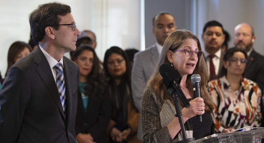
MULTIPOLYGON (((7 53, 15 41, 28 42, 29 14, 39 4, 52 0, 0 0, 0 71, 7 68, 7 53)), ((103 60, 111 46, 140 49, 140 0, 57 0, 71 6, 77 28, 92 30, 97 36, 96 53, 103 60)), ((69 54, 65 54, 69 57, 69 54)))

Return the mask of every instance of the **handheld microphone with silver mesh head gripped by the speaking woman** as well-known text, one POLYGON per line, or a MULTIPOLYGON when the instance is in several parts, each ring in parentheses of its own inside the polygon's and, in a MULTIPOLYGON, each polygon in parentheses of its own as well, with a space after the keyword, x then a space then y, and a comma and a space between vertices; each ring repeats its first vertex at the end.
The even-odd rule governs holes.
MULTIPOLYGON (((201 76, 198 74, 193 74, 191 76, 191 81, 193 82, 193 93, 194 97, 201 97, 201 87, 200 87, 200 81, 201 76)), ((202 115, 197 115, 198 122, 203 122, 202 115)))

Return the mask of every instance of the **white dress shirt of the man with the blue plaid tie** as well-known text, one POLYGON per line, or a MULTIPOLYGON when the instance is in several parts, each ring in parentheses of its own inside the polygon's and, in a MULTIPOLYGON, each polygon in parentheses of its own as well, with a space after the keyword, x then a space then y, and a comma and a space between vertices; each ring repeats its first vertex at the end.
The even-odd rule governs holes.
MULTIPOLYGON (((53 75, 53 77, 54 77, 54 81, 55 81, 55 83, 56 83, 56 71, 55 71, 55 69, 53 68, 55 65, 57 65, 57 63, 58 63, 58 61, 55 59, 55 58, 53 58, 53 57, 51 57, 43 48, 42 48, 42 46, 39 44, 39 48, 41 49, 41 51, 43 52, 43 54, 44 54, 44 56, 46 57, 46 59, 48 60, 48 64, 49 64, 49 66, 50 66, 50 69, 51 69, 51 71, 52 71, 52 75, 53 75)), ((61 60, 59 61, 60 63, 61 63, 61 65, 62 65, 62 68, 63 68, 63 58, 61 58, 61 60)))

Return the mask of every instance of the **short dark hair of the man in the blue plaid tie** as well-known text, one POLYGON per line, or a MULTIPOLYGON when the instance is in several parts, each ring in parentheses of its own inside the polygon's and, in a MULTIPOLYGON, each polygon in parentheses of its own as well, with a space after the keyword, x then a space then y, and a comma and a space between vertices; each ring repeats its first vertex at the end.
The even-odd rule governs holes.
POLYGON ((58 30, 58 24, 61 21, 58 15, 65 16, 67 13, 71 13, 71 7, 66 4, 52 2, 39 5, 29 16, 32 38, 36 42, 41 41, 45 35, 45 28, 48 26, 58 30))

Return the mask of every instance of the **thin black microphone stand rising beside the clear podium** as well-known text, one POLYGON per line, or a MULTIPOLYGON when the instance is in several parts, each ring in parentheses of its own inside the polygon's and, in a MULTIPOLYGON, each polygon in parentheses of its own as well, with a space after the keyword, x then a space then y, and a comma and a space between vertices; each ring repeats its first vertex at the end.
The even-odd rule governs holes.
POLYGON ((169 88, 167 90, 167 92, 170 93, 172 95, 172 97, 173 97, 174 106, 175 106, 175 110, 176 110, 175 117, 178 117, 179 122, 180 122, 180 128, 181 128, 181 131, 182 131, 183 140, 182 141, 178 141, 178 143, 187 143, 187 142, 194 141, 195 140, 194 137, 187 139, 186 132, 185 132, 185 127, 184 127, 184 123, 183 123, 183 119, 182 119, 182 114, 181 114, 180 102, 179 102, 179 99, 178 99, 177 92, 172 87, 169 88))

